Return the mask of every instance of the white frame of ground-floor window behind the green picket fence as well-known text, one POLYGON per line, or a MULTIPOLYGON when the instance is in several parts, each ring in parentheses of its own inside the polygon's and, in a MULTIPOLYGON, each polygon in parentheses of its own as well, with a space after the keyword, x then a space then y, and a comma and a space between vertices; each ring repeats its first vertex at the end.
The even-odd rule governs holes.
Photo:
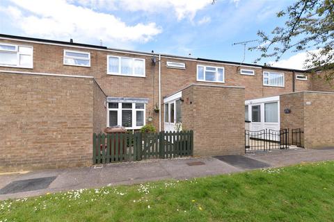
POLYGON ((109 126, 109 111, 117 111, 117 125, 122 126, 122 110, 132 110, 132 127, 125 127, 127 130, 139 130, 146 125, 146 103, 143 109, 136 108, 136 103, 132 103, 132 108, 122 108, 122 103, 129 103, 127 101, 123 102, 110 102, 118 103, 118 108, 109 108, 109 103, 106 103, 106 126, 109 126), (137 126, 137 111, 143 112, 143 126, 137 126))

